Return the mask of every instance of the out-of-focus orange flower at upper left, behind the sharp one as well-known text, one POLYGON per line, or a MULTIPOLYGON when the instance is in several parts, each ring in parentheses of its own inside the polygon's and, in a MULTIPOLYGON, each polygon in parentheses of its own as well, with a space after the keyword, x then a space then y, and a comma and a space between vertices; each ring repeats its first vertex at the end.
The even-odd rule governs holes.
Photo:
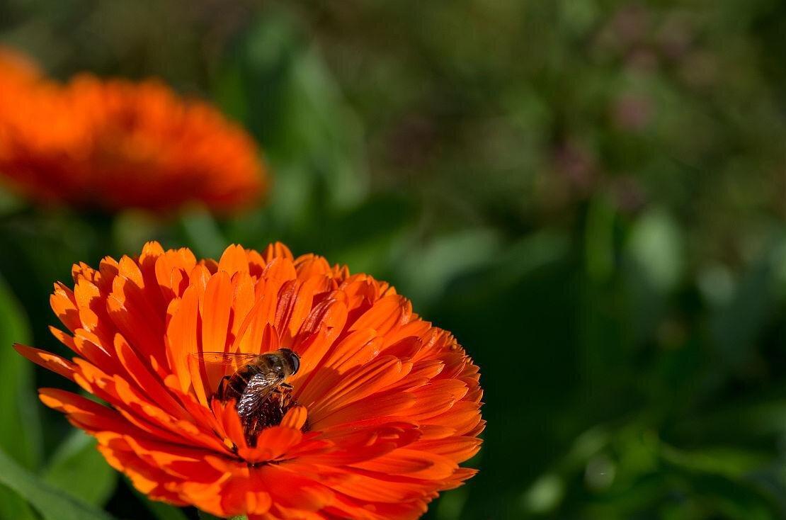
POLYGON ((42 202, 226 211, 266 188, 259 150, 210 105, 156 81, 61 85, 0 49, 0 172, 42 202))

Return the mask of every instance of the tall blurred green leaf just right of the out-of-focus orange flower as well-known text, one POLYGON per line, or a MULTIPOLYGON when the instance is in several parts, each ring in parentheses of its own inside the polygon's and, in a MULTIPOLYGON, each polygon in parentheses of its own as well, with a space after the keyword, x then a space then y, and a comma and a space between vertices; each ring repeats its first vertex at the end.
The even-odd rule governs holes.
POLYGON ((235 43, 215 98, 262 143, 275 176, 269 208, 307 225, 314 205, 349 208, 367 190, 362 131, 329 69, 285 8, 270 7, 235 43))

